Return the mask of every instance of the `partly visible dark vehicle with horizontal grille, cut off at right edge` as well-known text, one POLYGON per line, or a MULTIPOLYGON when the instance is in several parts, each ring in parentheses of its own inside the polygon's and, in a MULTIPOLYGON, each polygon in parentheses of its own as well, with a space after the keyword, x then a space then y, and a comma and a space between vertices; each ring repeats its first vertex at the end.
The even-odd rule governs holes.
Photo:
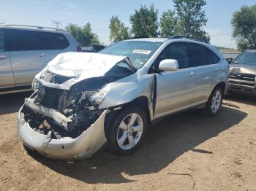
POLYGON ((256 50, 247 50, 230 62, 228 93, 256 93, 256 50))

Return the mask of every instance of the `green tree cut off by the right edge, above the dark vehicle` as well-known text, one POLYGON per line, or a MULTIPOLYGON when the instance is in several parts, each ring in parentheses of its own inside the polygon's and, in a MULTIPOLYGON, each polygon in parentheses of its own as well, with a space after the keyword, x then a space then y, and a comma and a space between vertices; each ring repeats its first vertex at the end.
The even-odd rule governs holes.
POLYGON ((231 21, 239 50, 256 49, 256 5, 243 6, 231 21))

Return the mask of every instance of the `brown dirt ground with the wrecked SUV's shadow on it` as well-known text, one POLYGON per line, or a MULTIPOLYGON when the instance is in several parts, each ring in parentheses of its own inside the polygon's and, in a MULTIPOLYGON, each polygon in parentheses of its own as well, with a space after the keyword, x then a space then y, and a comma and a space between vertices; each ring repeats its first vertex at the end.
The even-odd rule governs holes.
POLYGON ((29 93, 0 96, 0 190, 256 190, 256 98, 228 96, 153 125, 138 152, 75 162, 29 155, 16 116, 29 93))

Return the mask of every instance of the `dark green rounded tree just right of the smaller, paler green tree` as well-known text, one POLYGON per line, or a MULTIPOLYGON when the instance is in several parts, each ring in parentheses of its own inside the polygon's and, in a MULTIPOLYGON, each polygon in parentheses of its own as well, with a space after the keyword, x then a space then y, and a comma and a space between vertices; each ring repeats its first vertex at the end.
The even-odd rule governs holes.
POLYGON ((139 10, 130 16, 129 22, 132 25, 131 33, 134 36, 152 37, 158 35, 158 10, 154 5, 148 8, 145 5, 140 6, 139 10))

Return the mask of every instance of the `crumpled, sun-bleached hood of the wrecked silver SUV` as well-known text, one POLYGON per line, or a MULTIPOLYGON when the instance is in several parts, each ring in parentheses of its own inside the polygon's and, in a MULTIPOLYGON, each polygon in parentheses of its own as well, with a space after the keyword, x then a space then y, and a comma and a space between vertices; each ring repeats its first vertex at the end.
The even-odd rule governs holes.
POLYGON ((47 87, 69 90, 72 85, 83 79, 104 76, 113 66, 125 58, 127 57, 100 53, 65 52, 53 58, 48 63, 48 66, 37 74, 36 79, 47 87), (70 79, 62 84, 45 82, 41 77, 45 74, 45 71, 50 71, 50 73, 63 77, 69 77, 70 79))

